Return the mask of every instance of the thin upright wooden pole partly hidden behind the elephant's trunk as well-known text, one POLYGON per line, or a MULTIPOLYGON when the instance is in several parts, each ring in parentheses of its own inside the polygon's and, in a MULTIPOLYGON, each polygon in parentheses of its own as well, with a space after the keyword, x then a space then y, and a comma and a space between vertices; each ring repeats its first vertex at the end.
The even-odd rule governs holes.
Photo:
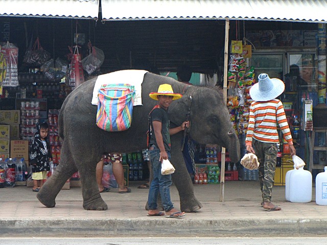
MULTIPOLYGON (((228 67, 228 32, 229 32, 229 19, 226 18, 225 24, 225 52, 224 52, 224 102, 227 104, 227 67, 228 67)), ((224 202, 225 194, 225 154, 226 149, 221 149, 221 167, 220 167, 220 202, 224 202)))

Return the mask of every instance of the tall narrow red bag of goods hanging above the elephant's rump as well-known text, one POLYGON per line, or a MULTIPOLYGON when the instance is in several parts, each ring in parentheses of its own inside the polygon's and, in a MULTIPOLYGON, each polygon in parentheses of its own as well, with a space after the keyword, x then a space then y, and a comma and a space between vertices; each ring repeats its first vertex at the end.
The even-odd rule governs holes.
POLYGON ((69 47, 72 56, 71 64, 69 64, 69 86, 73 89, 84 83, 82 57, 78 51, 78 46, 76 45, 74 47, 74 53, 72 47, 69 47))

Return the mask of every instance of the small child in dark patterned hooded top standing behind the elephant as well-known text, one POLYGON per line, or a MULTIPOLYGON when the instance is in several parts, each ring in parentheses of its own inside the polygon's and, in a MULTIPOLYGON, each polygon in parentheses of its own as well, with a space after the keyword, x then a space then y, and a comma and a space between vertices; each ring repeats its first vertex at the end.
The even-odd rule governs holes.
POLYGON ((46 122, 36 124, 35 137, 30 149, 30 164, 32 165, 33 191, 38 192, 43 181, 46 180, 46 171, 50 170, 49 161, 52 160, 48 138, 49 125, 46 122))

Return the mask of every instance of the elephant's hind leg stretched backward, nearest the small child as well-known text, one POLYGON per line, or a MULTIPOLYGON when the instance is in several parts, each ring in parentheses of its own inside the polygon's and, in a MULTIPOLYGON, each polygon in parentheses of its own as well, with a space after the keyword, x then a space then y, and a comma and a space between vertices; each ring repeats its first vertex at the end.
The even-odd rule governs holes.
POLYGON ((70 157, 70 152, 63 143, 61 149, 60 164, 57 166, 53 175, 45 181, 44 185, 37 193, 36 197, 44 206, 53 208, 56 206, 56 197, 71 176, 77 172, 77 167, 70 157), (69 161, 67 160, 69 159, 69 161))

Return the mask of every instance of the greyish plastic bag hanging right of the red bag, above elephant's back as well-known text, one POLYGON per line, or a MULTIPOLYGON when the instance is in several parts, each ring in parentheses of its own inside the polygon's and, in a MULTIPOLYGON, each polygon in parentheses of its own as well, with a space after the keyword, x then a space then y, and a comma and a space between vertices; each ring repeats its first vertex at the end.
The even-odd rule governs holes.
POLYGON ((82 64, 84 70, 90 75, 100 68, 104 61, 104 54, 100 48, 92 46, 91 42, 88 42, 87 46, 89 48, 89 55, 82 60, 82 64))

